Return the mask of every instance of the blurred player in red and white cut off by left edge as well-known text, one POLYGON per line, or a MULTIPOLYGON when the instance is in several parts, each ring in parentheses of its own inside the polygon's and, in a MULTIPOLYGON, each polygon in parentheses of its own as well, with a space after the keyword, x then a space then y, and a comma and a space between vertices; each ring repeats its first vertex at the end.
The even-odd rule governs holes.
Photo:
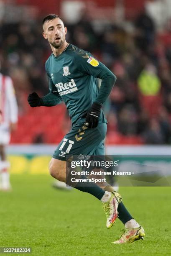
POLYGON ((10 163, 7 161, 5 146, 10 142, 10 132, 15 130, 18 120, 18 106, 10 77, 0 73, 0 190, 11 189, 10 163))

